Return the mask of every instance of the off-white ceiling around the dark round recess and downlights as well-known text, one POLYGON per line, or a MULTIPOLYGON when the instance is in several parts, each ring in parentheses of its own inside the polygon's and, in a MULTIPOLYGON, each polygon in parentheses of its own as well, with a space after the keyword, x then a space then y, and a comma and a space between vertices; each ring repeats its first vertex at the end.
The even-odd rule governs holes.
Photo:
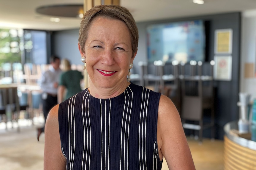
MULTIPOLYGON (((50 22, 50 16, 36 13, 44 5, 83 4, 84 0, 0 0, 0 28, 36 30, 66 30, 78 28, 80 19, 60 17, 60 22, 50 22)), ((120 0, 136 22, 191 17, 206 14, 238 12, 256 9, 256 0, 205 0, 193 4, 192 0, 120 0)))

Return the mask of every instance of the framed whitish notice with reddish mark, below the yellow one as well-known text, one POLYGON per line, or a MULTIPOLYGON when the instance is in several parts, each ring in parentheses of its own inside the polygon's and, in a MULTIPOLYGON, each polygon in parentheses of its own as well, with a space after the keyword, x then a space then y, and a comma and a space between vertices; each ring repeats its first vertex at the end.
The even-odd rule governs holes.
POLYGON ((230 81, 232 75, 232 56, 214 56, 214 79, 230 81))

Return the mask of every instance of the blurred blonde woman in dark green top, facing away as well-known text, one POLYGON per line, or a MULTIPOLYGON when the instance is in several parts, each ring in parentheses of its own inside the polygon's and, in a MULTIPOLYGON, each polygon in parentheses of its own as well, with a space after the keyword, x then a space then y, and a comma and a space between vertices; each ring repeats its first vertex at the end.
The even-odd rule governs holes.
POLYGON ((62 101, 82 91, 80 83, 83 80, 82 72, 78 70, 71 70, 69 60, 61 60, 61 69, 63 73, 60 75, 58 103, 61 103, 62 101))

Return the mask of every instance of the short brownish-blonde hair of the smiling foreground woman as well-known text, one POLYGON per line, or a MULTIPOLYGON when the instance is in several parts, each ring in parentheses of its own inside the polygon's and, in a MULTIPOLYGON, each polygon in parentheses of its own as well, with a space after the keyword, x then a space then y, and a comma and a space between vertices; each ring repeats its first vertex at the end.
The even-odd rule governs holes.
POLYGON ((84 46, 88 36, 87 34, 88 34, 89 26, 96 17, 106 17, 110 19, 121 20, 127 25, 128 30, 130 32, 130 36, 131 36, 132 56, 134 56, 134 54, 137 52, 137 49, 138 49, 138 41, 139 41, 138 28, 129 10, 125 7, 121 7, 118 5, 95 6, 95 7, 92 7, 89 11, 87 11, 84 14, 83 20, 80 23, 79 38, 78 38, 78 43, 80 45, 82 52, 85 52, 84 46))

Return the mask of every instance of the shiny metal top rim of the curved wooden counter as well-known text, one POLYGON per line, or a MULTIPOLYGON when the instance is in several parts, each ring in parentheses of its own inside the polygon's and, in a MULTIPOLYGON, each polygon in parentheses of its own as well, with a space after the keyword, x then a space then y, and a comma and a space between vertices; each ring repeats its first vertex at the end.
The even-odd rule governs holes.
MULTIPOLYGON (((252 129, 254 128, 253 126, 256 126, 256 125, 249 124, 249 133, 256 133, 255 131, 252 131, 252 129)), ((233 129, 238 130, 238 121, 228 122, 224 126, 225 135, 230 140, 237 143, 238 145, 244 146, 252 150, 256 150, 256 141, 252 141, 248 138, 246 139, 244 137, 239 137, 237 135, 234 135, 234 133, 232 133, 233 129)))

